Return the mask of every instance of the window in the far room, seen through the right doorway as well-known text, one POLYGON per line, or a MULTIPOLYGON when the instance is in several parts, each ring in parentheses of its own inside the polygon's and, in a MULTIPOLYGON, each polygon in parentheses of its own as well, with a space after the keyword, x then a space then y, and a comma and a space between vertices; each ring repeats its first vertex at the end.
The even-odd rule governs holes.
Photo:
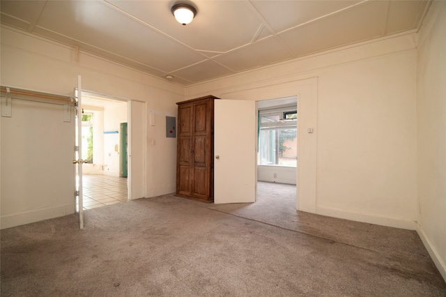
POLYGON ((293 107, 259 110, 258 165, 297 165, 298 112, 293 107))

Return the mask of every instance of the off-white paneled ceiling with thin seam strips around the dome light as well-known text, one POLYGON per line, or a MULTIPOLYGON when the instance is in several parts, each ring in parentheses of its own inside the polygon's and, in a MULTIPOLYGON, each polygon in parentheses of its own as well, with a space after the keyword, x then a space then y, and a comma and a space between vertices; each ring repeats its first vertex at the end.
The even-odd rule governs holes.
POLYGON ((1 23, 184 86, 419 29, 431 0, 5 1, 1 23), (183 26, 176 3, 197 8, 183 26))

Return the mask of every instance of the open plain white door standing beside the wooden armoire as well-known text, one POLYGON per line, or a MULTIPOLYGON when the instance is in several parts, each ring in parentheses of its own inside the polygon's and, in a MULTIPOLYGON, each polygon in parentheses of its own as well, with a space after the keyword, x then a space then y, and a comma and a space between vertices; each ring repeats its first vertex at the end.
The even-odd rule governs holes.
POLYGON ((215 100, 214 203, 256 201, 256 102, 215 100))

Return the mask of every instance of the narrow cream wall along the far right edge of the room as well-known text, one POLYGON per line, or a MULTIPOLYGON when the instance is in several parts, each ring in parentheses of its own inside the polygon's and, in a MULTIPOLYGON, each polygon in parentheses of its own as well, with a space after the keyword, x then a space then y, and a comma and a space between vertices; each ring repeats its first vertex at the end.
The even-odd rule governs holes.
POLYGON ((418 38, 417 231, 446 280, 446 2, 434 1, 418 38))

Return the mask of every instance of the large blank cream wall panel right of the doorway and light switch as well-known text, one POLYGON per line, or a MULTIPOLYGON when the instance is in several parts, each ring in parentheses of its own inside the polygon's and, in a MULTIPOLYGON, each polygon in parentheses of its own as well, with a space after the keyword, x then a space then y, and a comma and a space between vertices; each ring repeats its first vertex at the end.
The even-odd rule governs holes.
POLYGON ((326 213, 415 227, 415 69, 408 50, 321 71, 317 199, 326 213))

